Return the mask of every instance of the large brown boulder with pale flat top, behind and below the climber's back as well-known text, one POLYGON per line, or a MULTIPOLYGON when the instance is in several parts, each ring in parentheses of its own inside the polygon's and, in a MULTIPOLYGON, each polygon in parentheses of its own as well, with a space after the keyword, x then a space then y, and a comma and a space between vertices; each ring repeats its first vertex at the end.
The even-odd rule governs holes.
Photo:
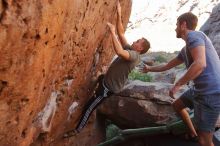
POLYGON ((121 93, 106 99, 99 111, 121 128, 167 124, 177 118, 169 97, 171 85, 132 81, 121 93))

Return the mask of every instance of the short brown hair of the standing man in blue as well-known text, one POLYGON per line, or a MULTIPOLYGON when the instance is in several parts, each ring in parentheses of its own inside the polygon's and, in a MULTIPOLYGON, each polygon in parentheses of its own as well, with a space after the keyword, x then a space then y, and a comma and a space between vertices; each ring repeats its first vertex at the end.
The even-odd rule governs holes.
POLYGON ((186 27, 189 30, 195 30, 197 23, 198 23, 198 17, 194 15, 192 12, 187 12, 187 13, 180 15, 177 18, 177 21, 179 22, 179 24, 182 24, 185 21, 186 27))

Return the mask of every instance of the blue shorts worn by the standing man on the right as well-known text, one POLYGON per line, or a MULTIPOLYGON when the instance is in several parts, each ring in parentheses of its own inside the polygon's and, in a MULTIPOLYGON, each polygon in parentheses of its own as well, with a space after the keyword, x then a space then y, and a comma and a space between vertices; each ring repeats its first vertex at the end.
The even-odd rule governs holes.
POLYGON ((220 114, 220 94, 198 95, 193 89, 189 89, 180 99, 185 107, 194 108, 194 125, 199 131, 215 131, 220 114))

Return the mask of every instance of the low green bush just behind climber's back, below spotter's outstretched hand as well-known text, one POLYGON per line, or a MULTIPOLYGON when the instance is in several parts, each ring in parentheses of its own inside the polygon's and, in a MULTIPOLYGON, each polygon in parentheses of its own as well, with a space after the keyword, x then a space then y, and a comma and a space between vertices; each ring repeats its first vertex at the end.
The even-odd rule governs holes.
POLYGON ((138 70, 133 70, 129 75, 128 79, 130 80, 140 80, 143 82, 151 82, 153 77, 146 73, 141 73, 138 70))

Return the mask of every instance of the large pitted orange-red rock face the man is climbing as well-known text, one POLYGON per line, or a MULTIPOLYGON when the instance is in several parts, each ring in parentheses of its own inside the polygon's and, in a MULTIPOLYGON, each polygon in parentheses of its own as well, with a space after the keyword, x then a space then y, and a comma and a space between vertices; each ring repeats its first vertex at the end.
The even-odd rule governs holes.
MULTIPOLYGON (((126 25, 131 1, 120 1, 126 25)), ((115 23, 116 4, 0 1, 0 145, 62 143, 91 95, 92 77, 114 54, 106 22, 115 23)), ((88 128, 80 141, 89 141, 88 128)), ((62 145, 69 143, 76 142, 62 145)))

